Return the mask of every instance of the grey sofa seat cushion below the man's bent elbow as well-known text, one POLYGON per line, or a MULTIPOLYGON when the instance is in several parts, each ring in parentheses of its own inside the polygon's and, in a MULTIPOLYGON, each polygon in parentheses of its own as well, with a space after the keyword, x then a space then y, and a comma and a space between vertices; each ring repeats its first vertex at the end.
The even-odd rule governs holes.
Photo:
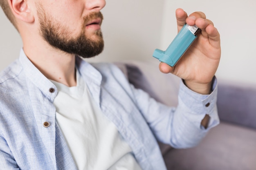
POLYGON ((221 122, 195 148, 163 156, 168 170, 256 170, 256 130, 221 122))

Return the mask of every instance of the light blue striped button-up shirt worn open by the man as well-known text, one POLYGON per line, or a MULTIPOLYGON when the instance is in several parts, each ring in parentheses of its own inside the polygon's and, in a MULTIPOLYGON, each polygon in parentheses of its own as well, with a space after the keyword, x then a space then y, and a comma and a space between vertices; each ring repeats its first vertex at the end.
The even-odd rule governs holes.
MULTIPOLYGON (((175 148, 198 144, 219 123, 216 80, 210 95, 180 84, 176 108, 135 89, 114 65, 89 64, 76 57, 76 66, 92 98, 132 149, 143 170, 166 170, 157 140, 175 148), (209 104, 210 105, 209 105, 209 104), (209 128, 201 120, 209 114, 209 128)), ((0 74, 0 167, 4 170, 76 170, 56 122, 56 86, 29 61, 20 57, 0 74)))

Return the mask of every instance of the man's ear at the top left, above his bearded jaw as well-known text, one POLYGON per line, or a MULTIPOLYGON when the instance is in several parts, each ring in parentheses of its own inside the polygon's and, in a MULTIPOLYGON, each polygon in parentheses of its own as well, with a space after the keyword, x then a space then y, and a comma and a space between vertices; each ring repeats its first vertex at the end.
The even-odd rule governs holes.
POLYGON ((13 15, 24 22, 34 22, 34 15, 29 9, 27 0, 8 0, 13 15))

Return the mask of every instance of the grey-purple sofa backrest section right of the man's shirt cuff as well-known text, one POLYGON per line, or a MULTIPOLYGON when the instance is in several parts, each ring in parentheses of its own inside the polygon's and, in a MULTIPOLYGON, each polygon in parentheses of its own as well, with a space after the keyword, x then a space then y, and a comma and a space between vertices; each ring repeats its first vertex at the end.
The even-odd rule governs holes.
POLYGON ((219 80, 217 106, 220 120, 256 129, 256 88, 219 80))

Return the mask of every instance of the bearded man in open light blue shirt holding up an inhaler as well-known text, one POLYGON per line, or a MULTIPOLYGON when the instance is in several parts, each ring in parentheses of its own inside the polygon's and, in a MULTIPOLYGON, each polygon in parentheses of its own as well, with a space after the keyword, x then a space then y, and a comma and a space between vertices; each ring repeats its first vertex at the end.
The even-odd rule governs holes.
POLYGON ((2 0, 19 31, 20 58, 0 75, 0 167, 4 170, 165 170, 157 140, 198 144, 219 122, 220 36, 204 13, 177 9, 178 30, 201 30, 163 73, 183 79, 169 108, 131 86, 118 68, 94 64, 103 50, 105 0, 2 0))

